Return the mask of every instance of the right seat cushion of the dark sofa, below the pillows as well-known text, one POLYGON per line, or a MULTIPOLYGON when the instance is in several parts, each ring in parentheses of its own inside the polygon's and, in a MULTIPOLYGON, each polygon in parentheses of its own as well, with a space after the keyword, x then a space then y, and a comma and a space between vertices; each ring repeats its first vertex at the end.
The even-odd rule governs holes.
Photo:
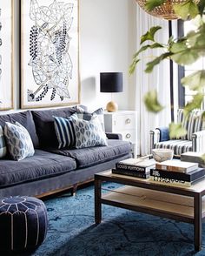
POLYGON ((122 157, 131 152, 131 144, 127 141, 109 139, 107 146, 96 146, 83 149, 50 150, 63 156, 76 159, 77 168, 89 167, 122 157))

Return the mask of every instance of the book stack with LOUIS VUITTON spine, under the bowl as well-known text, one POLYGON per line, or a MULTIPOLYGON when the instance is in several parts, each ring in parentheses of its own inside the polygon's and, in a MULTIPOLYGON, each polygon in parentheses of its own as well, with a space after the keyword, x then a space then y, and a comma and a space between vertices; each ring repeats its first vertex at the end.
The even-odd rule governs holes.
POLYGON ((155 168, 155 160, 149 158, 128 158, 116 163, 112 173, 149 179, 150 170, 155 168))

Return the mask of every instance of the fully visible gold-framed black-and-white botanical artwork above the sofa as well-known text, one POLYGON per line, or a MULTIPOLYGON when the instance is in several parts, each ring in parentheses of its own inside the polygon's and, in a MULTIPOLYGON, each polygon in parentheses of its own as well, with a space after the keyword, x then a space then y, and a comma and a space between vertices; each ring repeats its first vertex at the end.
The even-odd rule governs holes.
POLYGON ((22 108, 78 104, 78 0, 23 0, 22 108))

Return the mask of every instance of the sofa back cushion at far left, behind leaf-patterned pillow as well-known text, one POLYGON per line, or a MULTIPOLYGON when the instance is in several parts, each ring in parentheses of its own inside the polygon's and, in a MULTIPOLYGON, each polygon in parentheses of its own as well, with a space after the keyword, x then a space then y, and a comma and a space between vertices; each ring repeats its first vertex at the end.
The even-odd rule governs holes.
POLYGON ((36 135, 36 127, 30 111, 23 111, 19 113, 13 113, 8 115, 0 116, 0 125, 4 128, 5 122, 15 124, 18 122, 23 125, 27 131, 30 133, 30 138, 32 139, 35 148, 39 147, 39 141, 36 135))

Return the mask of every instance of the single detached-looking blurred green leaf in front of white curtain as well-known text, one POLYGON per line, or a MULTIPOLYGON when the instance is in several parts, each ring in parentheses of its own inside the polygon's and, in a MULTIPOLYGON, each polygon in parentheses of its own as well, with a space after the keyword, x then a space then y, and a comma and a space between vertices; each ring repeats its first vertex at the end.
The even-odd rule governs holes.
POLYGON ((164 108, 157 99, 157 93, 156 91, 149 91, 144 95, 144 104, 146 105, 146 108, 148 111, 151 112, 159 112, 162 111, 164 108))

